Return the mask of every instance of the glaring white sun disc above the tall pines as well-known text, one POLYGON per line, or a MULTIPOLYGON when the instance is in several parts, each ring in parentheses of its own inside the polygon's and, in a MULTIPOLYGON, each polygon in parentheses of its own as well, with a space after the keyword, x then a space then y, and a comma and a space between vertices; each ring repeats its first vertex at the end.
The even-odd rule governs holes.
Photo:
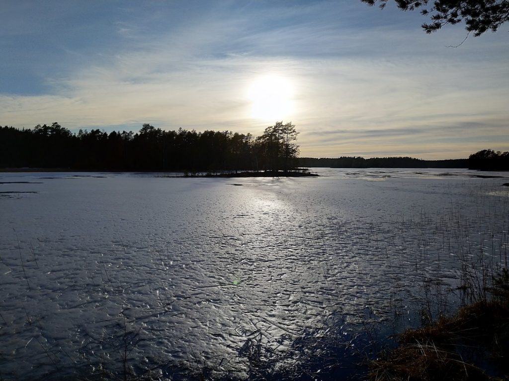
POLYGON ((275 121, 288 118, 293 112, 293 88, 290 81, 277 75, 255 80, 249 88, 251 116, 275 121))

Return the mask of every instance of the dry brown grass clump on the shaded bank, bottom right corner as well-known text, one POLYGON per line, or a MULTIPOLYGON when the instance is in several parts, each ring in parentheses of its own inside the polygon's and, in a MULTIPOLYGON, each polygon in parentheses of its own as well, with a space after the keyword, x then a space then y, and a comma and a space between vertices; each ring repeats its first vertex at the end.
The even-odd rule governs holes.
MULTIPOLYGON (((466 289, 468 290, 468 288, 466 289)), ((509 374, 509 271, 486 288, 489 298, 409 329, 398 346, 370 363, 372 381, 501 380, 509 374)))

